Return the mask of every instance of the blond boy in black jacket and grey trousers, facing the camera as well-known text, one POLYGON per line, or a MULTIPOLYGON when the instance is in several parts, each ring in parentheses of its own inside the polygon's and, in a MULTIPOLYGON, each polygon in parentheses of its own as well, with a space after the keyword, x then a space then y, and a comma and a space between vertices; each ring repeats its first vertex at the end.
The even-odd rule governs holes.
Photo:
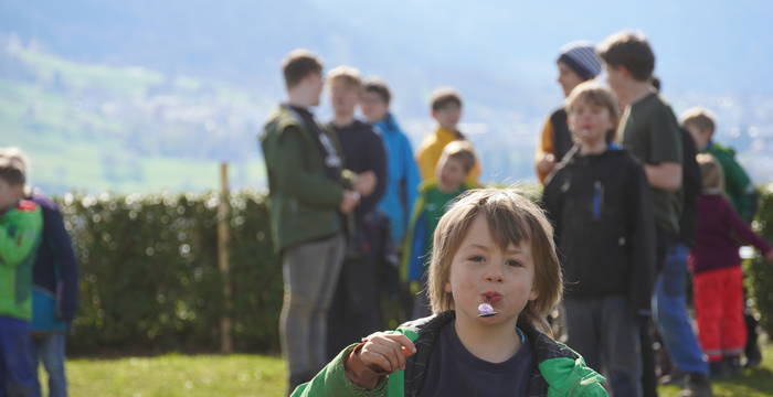
POLYGON ((578 146, 548 178, 543 202, 563 258, 568 345, 608 375, 615 396, 640 396, 638 320, 655 275, 649 189, 638 162, 608 143, 612 93, 583 83, 566 110, 578 146))

